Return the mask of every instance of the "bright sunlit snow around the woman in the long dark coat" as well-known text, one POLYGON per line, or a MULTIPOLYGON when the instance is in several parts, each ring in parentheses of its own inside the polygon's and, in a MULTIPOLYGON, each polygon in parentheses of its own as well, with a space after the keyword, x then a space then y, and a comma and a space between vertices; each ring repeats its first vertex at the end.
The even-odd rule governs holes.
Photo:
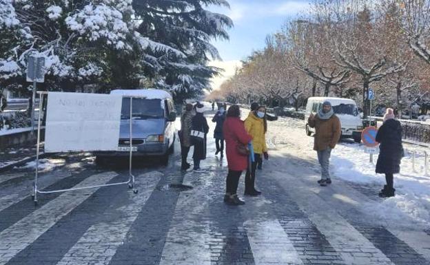
MULTIPOLYGON (((369 154, 364 152, 362 145, 337 145, 331 156, 331 171, 336 178, 382 188, 385 176, 375 173, 377 159, 378 154, 373 156, 373 164, 369 162, 369 154)), ((394 176, 396 196, 382 200, 380 204, 365 204, 363 207, 390 220, 401 220, 406 213, 414 220, 430 225, 430 176, 425 175, 422 152, 418 152, 415 169, 411 153, 407 151, 400 165, 400 174, 394 176)))

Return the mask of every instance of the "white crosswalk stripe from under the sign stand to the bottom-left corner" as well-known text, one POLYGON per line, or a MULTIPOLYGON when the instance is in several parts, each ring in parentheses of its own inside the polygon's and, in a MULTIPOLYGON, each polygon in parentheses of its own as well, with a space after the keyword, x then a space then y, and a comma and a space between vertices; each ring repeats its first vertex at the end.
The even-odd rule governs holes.
MULTIPOLYGON (((114 172, 99 173, 90 176, 75 187, 105 184, 117 176, 114 172)), ((12 257, 32 244, 37 237, 48 231, 51 226, 67 215, 76 206, 94 193, 94 189, 69 191, 62 193, 58 198, 51 200, 40 209, 10 226, 0 233, 0 249, 7 250, 0 256, 0 264, 6 264, 12 257)))

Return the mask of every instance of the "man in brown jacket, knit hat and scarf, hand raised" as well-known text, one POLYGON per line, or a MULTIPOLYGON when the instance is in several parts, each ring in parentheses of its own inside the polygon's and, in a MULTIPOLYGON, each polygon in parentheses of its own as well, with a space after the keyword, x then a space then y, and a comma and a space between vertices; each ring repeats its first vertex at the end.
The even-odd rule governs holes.
POLYGON ((321 179, 318 180, 318 183, 321 186, 327 186, 327 184, 331 184, 329 173, 331 150, 336 147, 342 133, 340 120, 334 114, 331 103, 325 101, 323 108, 318 111, 316 116, 311 114, 307 123, 309 127, 315 128, 314 150, 318 154, 318 162, 321 165, 321 179))

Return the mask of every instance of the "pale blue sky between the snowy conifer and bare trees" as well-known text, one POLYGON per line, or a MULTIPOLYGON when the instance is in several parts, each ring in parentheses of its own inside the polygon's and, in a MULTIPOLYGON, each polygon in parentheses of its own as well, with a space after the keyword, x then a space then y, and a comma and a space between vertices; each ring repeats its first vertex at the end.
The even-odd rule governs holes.
POLYGON ((280 30, 288 19, 309 8, 308 0, 228 0, 231 8, 211 8, 227 14, 234 28, 229 41, 214 41, 223 61, 244 59, 265 46, 265 37, 280 30))

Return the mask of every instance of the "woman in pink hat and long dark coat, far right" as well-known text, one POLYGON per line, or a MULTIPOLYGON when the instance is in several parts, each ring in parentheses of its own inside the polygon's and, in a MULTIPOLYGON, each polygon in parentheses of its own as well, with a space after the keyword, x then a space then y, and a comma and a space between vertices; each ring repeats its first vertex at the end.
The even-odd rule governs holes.
POLYGON ((385 112, 384 123, 376 134, 376 142, 380 143, 380 153, 376 163, 376 173, 384 173, 387 185, 379 193, 382 198, 394 196, 393 174, 400 172, 400 160, 403 157, 402 126, 394 119, 393 109, 385 112))

